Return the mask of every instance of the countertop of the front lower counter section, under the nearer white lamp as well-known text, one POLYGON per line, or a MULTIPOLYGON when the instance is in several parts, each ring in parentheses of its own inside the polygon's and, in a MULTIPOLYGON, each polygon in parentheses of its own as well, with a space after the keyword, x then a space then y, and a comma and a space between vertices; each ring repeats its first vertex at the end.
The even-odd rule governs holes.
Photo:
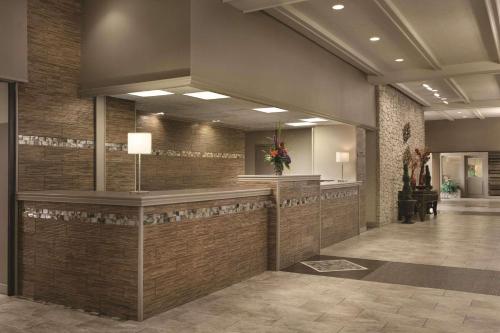
POLYGON ((175 203, 223 200, 270 195, 266 187, 226 187, 170 191, 97 192, 97 191, 23 191, 17 194, 20 201, 66 202, 98 205, 144 207, 175 203))

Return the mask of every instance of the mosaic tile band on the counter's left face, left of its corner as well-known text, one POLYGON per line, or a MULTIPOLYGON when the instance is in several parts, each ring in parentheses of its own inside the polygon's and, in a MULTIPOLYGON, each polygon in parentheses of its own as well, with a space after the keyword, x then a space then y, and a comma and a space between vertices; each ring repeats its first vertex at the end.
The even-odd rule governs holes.
POLYGON ((54 220, 65 222, 84 222, 93 224, 112 224, 112 225, 137 225, 137 219, 131 216, 112 213, 95 213, 71 210, 56 210, 46 208, 24 208, 23 217, 29 217, 40 220, 54 220))

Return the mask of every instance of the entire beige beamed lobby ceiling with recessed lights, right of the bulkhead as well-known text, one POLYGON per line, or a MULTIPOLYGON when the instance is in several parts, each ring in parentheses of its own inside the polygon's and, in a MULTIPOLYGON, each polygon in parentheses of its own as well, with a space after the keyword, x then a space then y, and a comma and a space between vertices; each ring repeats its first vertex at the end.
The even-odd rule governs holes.
POLYGON ((369 82, 393 85, 424 105, 427 120, 500 116, 500 0, 223 2, 245 13, 266 11, 369 82), (344 8, 333 10, 338 4, 344 8), (374 36, 380 40, 370 41, 374 36))

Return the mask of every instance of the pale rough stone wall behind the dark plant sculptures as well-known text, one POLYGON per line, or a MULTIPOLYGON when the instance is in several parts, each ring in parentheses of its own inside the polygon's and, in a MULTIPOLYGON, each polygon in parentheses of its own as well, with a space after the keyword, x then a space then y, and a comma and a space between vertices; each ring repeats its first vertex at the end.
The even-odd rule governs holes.
POLYGON ((379 225, 397 221, 398 191, 403 187, 403 127, 411 124, 410 149, 425 147, 425 122, 422 107, 389 86, 377 87, 378 123, 378 202, 379 225))

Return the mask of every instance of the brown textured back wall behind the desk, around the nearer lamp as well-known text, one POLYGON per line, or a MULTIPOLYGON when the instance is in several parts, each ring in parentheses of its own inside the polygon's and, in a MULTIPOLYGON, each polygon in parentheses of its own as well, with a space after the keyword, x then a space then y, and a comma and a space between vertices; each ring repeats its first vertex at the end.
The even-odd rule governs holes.
MULTIPOLYGON (((127 154, 127 133, 135 127, 134 102, 106 101, 106 189, 130 191, 134 157, 127 154)), ((144 190, 233 186, 245 173, 241 130, 138 112, 137 131, 153 137, 153 154, 142 156, 144 190)))

